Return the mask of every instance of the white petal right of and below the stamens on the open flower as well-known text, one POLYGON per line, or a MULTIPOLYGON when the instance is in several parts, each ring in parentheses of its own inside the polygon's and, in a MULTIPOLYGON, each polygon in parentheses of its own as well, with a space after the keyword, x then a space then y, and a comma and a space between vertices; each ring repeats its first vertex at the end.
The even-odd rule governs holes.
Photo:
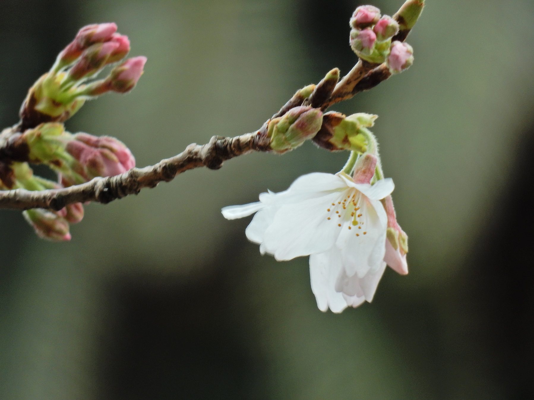
POLYGON ((384 258, 387 215, 378 201, 368 201, 364 197, 358 204, 362 213, 360 221, 363 223, 358 225, 358 229, 348 229, 351 223, 348 221, 348 225, 342 227, 335 246, 341 250, 347 276, 357 274, 362 278, 368 271, 378 269, 384 258), (376 204, 373 203, 379 203, 384 219, 379 217, 374 207, 376 204))

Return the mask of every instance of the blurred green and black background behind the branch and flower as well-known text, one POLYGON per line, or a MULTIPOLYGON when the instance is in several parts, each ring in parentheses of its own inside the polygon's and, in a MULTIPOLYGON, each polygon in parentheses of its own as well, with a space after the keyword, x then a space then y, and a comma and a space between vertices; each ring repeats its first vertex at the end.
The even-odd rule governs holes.
MULTIPOLYGON (((402 0, 376 0, 393 14, 402 0)), ((71 132, 126 142, 139 166, 257 129, 294 91, 356 61, 356 0, 2 0, 0 122, 77 29, 115 21, 146 55, 129 95, 71 132)), ((429 0, 409 71, 339 105, 374 132, 410 237, 410 274, 321 313, 307 258, 261 257, 256 201, 344 154, 307 143, 86 207, 70 243, 0 213, 0 398, 519 399, 532 393, 534 3, 429 0)))

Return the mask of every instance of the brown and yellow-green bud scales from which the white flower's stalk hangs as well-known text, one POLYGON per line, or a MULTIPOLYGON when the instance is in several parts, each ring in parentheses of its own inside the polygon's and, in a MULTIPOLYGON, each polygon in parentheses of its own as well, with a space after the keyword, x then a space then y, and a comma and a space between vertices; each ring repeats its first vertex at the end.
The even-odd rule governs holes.
POLYGON ((323 125, 313 138, 313 142, 329 151, 352 150, 365 153, 367 139, 364 130, 374 125, 376 115, 352 114, 345 116, 329 111, 323 116, 323 125))

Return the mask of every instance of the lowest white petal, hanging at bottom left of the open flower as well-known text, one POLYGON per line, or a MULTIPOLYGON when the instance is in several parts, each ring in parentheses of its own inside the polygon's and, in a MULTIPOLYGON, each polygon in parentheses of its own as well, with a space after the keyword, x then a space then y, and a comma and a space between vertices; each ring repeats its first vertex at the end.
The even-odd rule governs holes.
POLYGON ((347 301, 342 293, 334 289, 340 269, 341 258, 337 251, 310 255, 311 290, 321 311, 330 308, 334 313, 341 313, 347 308, 347 301))

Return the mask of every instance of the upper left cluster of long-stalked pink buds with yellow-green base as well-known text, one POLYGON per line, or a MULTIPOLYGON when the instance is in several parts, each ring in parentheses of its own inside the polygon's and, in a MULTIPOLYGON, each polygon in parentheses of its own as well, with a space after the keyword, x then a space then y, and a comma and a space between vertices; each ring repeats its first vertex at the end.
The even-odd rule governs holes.
POLYGON ((128 37, 116 30, 114 23, 101 23, 78 31, 73 42, 59 53, 50 71, 30 88, 20 110, 22 129, 43 122, 64 122, 87 99, 110 91, 125 93, 133 89, 143 74, 145 57, 125 60, 105 79, 88 82, 107 65, 120 62, 129 53, 128 37))

